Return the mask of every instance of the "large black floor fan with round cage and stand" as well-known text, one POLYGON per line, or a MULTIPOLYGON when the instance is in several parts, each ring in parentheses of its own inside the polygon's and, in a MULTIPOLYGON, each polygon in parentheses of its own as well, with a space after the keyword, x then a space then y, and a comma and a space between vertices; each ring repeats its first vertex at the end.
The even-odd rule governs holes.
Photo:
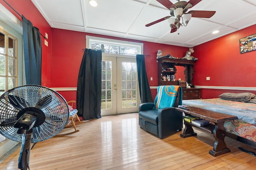
POLYGON ((29 169, 30 143, 58 134, 68 117, 65 99, 47 87, 25 85, 1 95, 0 133, 10 140, 22 142, 19 169, 29 169))

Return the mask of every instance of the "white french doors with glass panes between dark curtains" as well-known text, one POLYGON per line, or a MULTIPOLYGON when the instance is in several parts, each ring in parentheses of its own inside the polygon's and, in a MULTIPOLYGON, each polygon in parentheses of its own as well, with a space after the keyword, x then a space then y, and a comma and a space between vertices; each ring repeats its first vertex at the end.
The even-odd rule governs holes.
POLYGON ((138 112, 136 59, 102 56, 101 115, 138 112))

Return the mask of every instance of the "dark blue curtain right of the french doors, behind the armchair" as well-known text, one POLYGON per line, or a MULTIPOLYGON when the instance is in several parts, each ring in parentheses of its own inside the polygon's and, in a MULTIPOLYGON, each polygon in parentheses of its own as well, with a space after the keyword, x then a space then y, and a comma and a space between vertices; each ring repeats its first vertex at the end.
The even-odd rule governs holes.
POLYGON ((140 88, 140 100, 141 103, 153 103, 150 87, 148 84, 148 77, 145 66, 144 55, 136 55, 137 69, 138 69, 138 81, 140 88))

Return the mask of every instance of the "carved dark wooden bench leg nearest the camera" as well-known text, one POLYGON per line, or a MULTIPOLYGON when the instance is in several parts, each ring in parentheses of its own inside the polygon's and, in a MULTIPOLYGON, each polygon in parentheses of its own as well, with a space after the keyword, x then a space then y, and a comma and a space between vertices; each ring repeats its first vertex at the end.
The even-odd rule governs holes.
POLYGON ((226 130, 224 128, 224 122, 215 123, 215 128, 213 130, 213 136, 215 138, 215 143, 213 150, 209 151, 209 154, 212 156, 219 156, 221 154, 226 154, 230 152, 230 149, 227 148, 224 138, 226 136, 226 130))

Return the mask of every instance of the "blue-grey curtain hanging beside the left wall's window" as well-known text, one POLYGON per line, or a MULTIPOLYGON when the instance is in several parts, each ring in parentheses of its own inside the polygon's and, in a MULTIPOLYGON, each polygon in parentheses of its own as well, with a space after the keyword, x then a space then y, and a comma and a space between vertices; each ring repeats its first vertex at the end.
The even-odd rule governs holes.
POLYGON ((27 85, 41 85, 42 42, 38 28, 22 16, 25 75, 27 85))

